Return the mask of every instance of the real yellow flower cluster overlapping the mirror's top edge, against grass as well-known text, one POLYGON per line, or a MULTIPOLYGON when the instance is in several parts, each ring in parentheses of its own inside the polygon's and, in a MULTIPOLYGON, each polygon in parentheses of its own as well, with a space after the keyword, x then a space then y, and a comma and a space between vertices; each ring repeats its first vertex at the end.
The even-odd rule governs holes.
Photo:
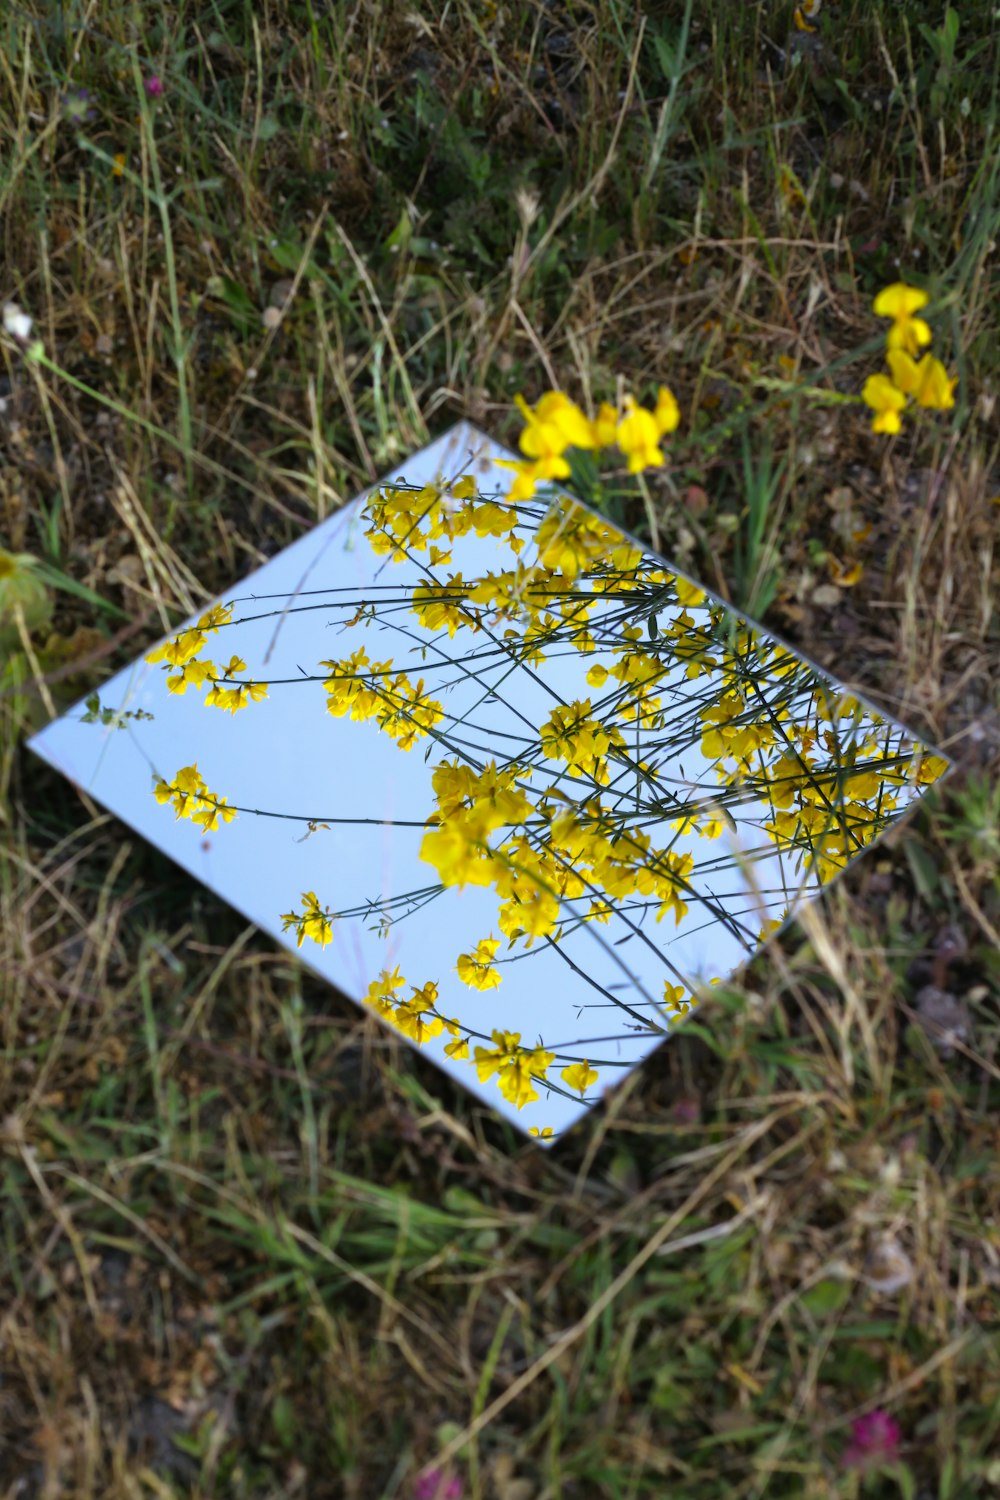
POLYGON ((534 408, 523 396, 514 396, 514 400, 526 422, 517 440, 525 458, 498 459, 504 468, 513 470, 517 476, 510 490, 513 501, 531 500, 540 480, 568 478, 570 464, 565 454, 570 448, 618 447, 628 460, 630 474, 660 468, 663 465, 660 441, 681 422, 678 404, 666 386, 660 387, 652 411, 636 405, 633 398, 627 396, 622 412, 603 402, 594 418, 588 418, 577 404, 559 390, 546 392, 534 408))

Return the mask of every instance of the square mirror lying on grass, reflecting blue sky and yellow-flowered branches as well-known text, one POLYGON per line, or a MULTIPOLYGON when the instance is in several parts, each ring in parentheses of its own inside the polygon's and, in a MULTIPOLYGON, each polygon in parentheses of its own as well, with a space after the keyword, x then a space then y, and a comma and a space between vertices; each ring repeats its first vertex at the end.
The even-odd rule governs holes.
POLYGON ((31 748, 543 1142, 948 762, 462 423, 31 748))

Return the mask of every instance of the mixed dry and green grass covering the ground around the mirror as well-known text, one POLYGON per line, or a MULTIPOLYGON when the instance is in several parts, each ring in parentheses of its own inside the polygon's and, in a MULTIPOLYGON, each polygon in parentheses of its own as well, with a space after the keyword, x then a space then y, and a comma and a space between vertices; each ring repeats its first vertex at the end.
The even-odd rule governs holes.
POLYGON ((4 10, 4 1496, 997 1492, 1000 21, 654 12, 4 10), (889 441, 898 278, 960 387, 889 441), (622 520, 960 770, 543 1156, 21 744, 456 417, 619 378, 684 414, 622 520))

